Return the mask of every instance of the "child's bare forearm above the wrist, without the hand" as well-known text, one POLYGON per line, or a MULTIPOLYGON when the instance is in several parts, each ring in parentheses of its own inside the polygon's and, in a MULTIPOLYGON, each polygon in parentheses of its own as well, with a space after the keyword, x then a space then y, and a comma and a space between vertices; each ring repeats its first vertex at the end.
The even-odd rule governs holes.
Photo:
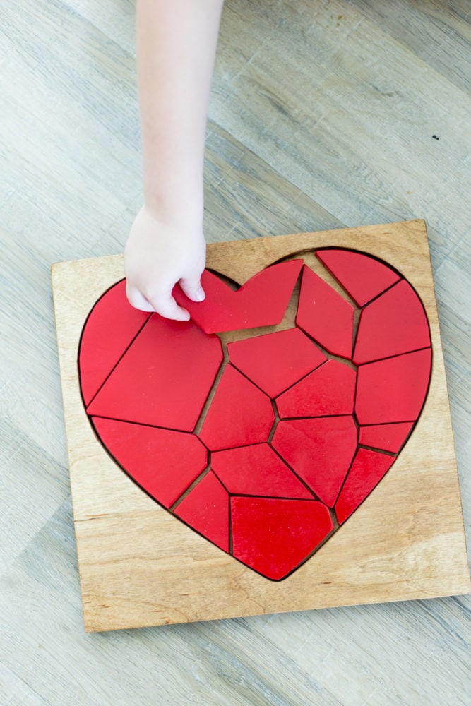
POLYGON ((138 0, 138 90, 145 205, 203 210, 208 96, 223 0, 138 0))

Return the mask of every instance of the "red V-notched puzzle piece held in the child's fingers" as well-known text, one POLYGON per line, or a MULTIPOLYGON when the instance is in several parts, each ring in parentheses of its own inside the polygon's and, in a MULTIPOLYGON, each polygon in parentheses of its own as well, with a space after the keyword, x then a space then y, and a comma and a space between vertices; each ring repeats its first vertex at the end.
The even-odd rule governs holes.
POLYGON ((302 260, 292 260, 271 265, 251 277, 236 292, 205 270, 201 277, 206 294, 204 301, 191 301, 179 285, 173 294, 206 333, 275 325, 285 315, 302 264, 302 260))

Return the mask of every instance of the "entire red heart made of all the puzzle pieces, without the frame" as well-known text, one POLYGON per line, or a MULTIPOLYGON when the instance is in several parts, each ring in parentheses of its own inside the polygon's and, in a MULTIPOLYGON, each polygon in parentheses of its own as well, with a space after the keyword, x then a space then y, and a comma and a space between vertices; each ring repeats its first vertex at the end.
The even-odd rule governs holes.
POLYGON ((78 355, 86 412, 114 460, 273 580, 381 481, 431 374, 429 324, 410 283, 366 253, 314 252, 326 279, 301 259, 237 290, 206 270, 201 304, 174 290, 186 323, 133 309, 121 280, 90 311, 78 355), (289 304, 293 321, 280 326, 289 304))

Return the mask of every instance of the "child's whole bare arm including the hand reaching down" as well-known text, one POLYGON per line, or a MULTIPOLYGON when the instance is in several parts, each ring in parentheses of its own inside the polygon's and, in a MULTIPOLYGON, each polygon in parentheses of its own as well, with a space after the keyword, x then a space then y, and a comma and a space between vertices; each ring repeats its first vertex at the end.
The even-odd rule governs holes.
POLYGON ((129 301, 189 318, 172 289, 203 299, 203 155, 223 0, 138 0, 145 203, 124 251, 129 301))

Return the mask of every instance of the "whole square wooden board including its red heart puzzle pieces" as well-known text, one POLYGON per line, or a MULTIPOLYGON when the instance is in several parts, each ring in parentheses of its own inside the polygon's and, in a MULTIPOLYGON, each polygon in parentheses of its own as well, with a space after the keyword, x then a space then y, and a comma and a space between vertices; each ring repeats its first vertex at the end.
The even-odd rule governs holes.
POLYGON ((424 222, 207 266, 184 324, 52 267, 85 629, 469 591, 424 222))

